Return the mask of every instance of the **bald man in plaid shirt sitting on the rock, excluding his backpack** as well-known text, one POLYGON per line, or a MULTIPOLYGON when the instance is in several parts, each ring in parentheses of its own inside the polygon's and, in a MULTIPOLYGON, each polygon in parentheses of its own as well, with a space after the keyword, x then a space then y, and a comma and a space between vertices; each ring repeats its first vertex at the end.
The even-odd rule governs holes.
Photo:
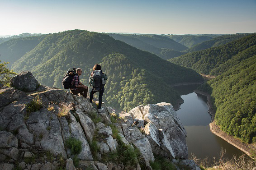
POLYGON ((84 96, 86 98, 87 92, 88 92, 88 86, 85 86, 79 81, 79 76, 81 74, 82 74, 82 69, 80 68, 76 69, 76 74, 71 79, 70 90, 74 95, 80 93, 80 96, 84 96))

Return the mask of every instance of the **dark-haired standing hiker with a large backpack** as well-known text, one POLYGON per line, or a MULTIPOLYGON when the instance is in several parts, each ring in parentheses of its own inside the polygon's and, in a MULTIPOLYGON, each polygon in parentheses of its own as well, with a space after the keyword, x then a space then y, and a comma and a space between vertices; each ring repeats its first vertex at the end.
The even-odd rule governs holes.
POLYGON ((95 64, 95 66, 93 67, 93 72, 90 74, 89 79, 90 86, 93 87, 90 92, 90 102, 92 102, 93 94, 95 92, 100 92, 98 112, 101 112, 102 96, 104 93, 104 85, 107 79, 107 75, 102 73, 100 64, 95 64))

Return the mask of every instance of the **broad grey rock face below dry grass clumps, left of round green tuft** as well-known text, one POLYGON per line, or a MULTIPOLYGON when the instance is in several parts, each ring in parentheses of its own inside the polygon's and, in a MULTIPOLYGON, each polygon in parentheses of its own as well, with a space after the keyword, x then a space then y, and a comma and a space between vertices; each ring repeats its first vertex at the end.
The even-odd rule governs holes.
POLYGON ((30 113, 27 124, 29 131, 34 135, 36 147, 50 151, 54 156, 62 154, 66 159, 62 129, 57 115, 43 108, 30 113))

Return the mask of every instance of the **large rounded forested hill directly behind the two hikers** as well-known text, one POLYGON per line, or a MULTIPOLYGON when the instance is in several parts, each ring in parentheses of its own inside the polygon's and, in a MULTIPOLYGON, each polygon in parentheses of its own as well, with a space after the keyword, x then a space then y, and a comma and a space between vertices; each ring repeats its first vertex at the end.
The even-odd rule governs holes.
POLYGON ((92 67, 99 63, 108 76, 104 100, 124 110, 162 101, 175 104, 180 95, 171 85, 203 81, 192 69, 166 62, 103 33, 72 30, 30 39, 36 43, 27 41, 19 38, 0 44, 1 60, 11 62, 17 73, 31 70, 39 83, 58 88, 62 88, 66 70, 72 67, 83 69, 80 80, 89 85, 92 67), (12 48, 12 42, 17 48, 12 48), (24 54, 20 51, 25 44, 29 51, 24 54), (14 57, 17 61, 13 63, 14 57))

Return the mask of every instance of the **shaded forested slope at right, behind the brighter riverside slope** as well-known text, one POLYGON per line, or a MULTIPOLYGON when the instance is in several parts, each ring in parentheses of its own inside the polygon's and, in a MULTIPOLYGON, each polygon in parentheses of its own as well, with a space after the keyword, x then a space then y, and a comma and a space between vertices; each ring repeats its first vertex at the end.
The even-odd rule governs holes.
POLYGON ((256 33, 223 46, 188 53, 168 61, 194 69, 198 73, 218 75, 223 73, 221 67, 225 62, 254 45, 256 45, 256 33), (220 68, 218 69, 218 67, 220 68))

